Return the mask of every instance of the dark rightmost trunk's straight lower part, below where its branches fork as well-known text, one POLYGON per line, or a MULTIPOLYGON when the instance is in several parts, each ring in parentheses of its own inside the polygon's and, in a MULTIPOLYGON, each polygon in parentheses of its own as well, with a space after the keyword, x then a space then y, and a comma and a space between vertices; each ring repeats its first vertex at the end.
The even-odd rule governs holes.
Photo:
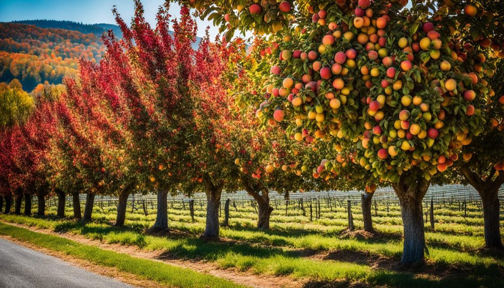
POLYGON ((488 248, 502 248, 500 239, 500 213, 498 187, 479 191, 483 204, 483 220, 485 223, 485 246, 488 248))

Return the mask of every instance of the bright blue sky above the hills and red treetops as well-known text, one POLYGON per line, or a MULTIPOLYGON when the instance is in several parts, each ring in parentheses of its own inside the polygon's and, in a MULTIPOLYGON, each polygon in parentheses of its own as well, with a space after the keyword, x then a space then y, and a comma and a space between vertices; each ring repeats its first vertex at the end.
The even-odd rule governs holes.
MULTIPOLYGON (((158 7, 164 0, 143 0, 146 20, 151 24, 156 23, 158 7)), ((14 20, 70 20, 84 24, 108 23, 115 24, 112 7, 117 6, 121 17, 130 23, 133 16, 133 0, 0 0, 0 22, 14 20)), ((180 7, 171 4, 170 14, 177 17, 180 7)), ((198 21, 198 36, 205 35, 205 29, 210 26, 210 39, 218 33, 218 28, 209 21, 198 21)))

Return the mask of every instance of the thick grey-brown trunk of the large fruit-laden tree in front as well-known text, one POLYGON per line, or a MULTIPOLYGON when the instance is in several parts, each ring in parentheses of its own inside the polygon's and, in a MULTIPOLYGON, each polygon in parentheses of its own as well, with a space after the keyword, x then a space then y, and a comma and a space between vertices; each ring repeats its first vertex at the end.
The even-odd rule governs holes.
POLYGON ((401 204, 403 220, 403 264, 421 263, 424 260, 425 232, 423 225, 422 200, 429 187, 423 178, 416 183, 406 183, 401 177, 399 183, 392 184, 401 204))

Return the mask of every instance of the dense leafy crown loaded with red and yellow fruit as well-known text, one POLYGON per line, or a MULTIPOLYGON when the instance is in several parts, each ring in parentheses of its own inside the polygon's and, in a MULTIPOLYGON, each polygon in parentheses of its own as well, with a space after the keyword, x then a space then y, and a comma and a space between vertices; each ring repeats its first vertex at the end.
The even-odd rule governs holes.
MULTIPOLYGON (((483 130, 488 68, 450 27, 416 19, 404 4, 310 7, 311 19, 262 50, 270 76, 256 115, 270 126, 288 121, 297 141, 352 141, 353 161, 383 181, 445 171, 483 130)), ((314 176, 331 173, 331 162, 314 176)))

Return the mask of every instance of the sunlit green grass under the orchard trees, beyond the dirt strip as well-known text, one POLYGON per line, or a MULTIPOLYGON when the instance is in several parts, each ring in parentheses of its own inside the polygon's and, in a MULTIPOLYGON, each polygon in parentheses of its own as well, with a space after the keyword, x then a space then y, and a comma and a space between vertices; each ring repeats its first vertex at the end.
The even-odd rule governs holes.
MULTIPOLYGON (((211 243, 198 238, 205 226, 205 209, 199 205, 195 205, 194 222, 182 205, 170 207, 170 226, 181 233, 167 237, 144 234, 155 220, 153 209, 149 209, 148 216, 141 210, 128 211, 124 228, 111 225, 115 220, 115 207, 102 209, 97 205, 94 220, 88 223, 57 219, 54 207, 49 209, 47 217, 0 215, 0 219, 105 243, 158 250, 171 258, 203 259, 222 269, 303 278, 315 283, 314 286, 318 286, 319 281, 392 287, 504 286, 504 258, 479 251, 484 244, 483 221, 476 206, 468 205, 466 217, 456 205, 435 207, 435 230, 426 227, 430 252, 426 255, 427 264, 412 271, 397 265, 402 253, 399 206, 378 206, 377 215, 373 209, 374 226, 380 235, 367 239, 342 234, 347 225, 343 207, 322 206, 322 218, 313 218, 313 221, 309 220, 309 212, 303 216, 295 205, 287 216, 284 209, 278 209, 271 217, 271 231, 258 231, 255 210, 246 205, 237 206, 238 211, 231 208, 230 227, 221 228, 221 237, 228 240, 211 243), (446 273, 449 275, 444 275, 446 273)), ((357 208, 354 209, 355 225, 361 227, 362 216, 357 208)), ((71 214, 70 210, 67 212, 71 214)))

